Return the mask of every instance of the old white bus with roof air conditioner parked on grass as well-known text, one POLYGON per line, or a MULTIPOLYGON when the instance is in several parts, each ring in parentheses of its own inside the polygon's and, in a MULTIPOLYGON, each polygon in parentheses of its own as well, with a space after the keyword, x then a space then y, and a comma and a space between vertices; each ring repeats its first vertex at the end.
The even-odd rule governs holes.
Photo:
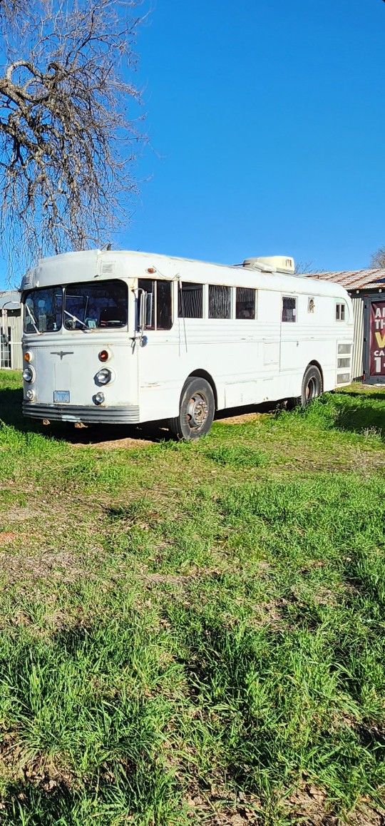
POLYGON ((167 420, 197 439, 215 412, 302 404, 349 384, 353 312, 339 284, 290 258, 223 266, 92 250, 42 259, 21 283, 26 416, 167 420))

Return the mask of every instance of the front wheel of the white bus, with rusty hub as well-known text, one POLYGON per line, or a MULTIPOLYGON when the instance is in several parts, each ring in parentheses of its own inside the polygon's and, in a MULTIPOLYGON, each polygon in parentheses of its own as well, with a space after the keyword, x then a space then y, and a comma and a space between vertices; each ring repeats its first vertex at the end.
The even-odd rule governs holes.
POLYGON ((210 430, 214 414, 212 386, 205 378, 189 377, 183 385, 179 415, 169 419, 169 430, 185 442, 200 439, 210 430))

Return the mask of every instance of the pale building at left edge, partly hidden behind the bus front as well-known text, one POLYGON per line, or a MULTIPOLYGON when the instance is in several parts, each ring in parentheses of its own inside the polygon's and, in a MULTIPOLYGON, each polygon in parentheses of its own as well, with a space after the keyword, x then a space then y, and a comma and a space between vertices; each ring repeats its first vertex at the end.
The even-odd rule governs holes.
POLYGON ((22 369, 20 292, 0 291, 0 368, 22 369))

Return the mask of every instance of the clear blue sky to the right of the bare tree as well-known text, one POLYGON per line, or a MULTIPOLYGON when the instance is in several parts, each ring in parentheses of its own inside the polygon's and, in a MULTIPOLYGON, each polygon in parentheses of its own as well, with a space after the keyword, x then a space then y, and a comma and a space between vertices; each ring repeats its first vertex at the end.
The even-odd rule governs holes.
POLYGON ((385 244, 385 3, 154 0, 150 145, 118 243, 361 268, 385 244))

